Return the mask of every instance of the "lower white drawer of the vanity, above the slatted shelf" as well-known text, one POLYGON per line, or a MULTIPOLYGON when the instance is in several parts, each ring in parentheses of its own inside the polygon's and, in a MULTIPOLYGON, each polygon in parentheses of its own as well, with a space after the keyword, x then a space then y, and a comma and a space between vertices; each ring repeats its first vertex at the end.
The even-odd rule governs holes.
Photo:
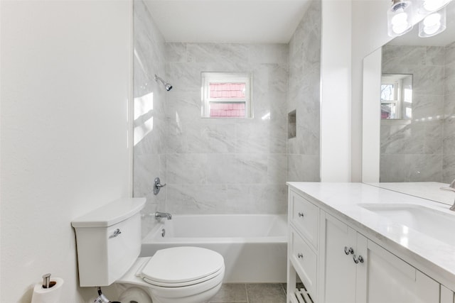
POLYGON ((289 258, 312 298, 316 299, 317 256, 298 233, 291 228, 289 258))

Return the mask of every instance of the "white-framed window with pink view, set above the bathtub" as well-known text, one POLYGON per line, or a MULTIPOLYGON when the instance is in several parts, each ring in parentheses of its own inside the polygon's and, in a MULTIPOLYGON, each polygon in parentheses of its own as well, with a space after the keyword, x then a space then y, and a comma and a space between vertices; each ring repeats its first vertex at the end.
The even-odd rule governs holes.
POLYGON ((234 72, 202 73, 202 116, 252 118, 251 75, 234 72))

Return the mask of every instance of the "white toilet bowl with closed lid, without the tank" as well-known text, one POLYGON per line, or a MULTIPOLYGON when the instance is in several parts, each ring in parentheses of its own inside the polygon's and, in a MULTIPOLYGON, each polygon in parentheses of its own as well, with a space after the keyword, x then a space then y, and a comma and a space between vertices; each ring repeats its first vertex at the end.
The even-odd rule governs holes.
POLYGON ((224 272, 223 256, 213 250, 189 246, 158 250, 152 257, 138 258, 117 280, 119 301, 142 303, 135 298, 146 291, 154 303, 208 302, 220 289, 224 272))

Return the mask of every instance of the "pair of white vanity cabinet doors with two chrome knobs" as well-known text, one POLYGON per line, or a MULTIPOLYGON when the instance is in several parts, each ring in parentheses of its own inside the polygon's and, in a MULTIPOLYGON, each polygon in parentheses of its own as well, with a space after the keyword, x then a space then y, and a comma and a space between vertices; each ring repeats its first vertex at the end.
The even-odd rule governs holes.
POLYGON ((439 303, 439 284, 325 214, 326 303, 439 303))

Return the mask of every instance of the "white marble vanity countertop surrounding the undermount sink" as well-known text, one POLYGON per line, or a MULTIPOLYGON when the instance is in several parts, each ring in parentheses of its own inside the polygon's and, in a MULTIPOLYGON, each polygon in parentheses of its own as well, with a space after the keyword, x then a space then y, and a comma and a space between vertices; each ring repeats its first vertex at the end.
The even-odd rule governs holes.
MULTIPOLYGON (((360 204, 414 204, 454 216, 455 220, 455 212, 449 210, 448 204, 363 183, 287 182, 287 184, 294 191, 318 203, 324 211, 338 216, 359 233, 455 291, 455 246, 453 244, 439 241, 431 236, 432 233, 419 232, 400 224, 397 219, 392 221, 386 216, 360 206, 360 204)), ((436 185, 439 189, 440 183, 429 184, 434 188, 436 185)), ((438 222, 434 224, 437 226, 438 222)), ((455 230, 453 236, 455 237, 455 230)))

